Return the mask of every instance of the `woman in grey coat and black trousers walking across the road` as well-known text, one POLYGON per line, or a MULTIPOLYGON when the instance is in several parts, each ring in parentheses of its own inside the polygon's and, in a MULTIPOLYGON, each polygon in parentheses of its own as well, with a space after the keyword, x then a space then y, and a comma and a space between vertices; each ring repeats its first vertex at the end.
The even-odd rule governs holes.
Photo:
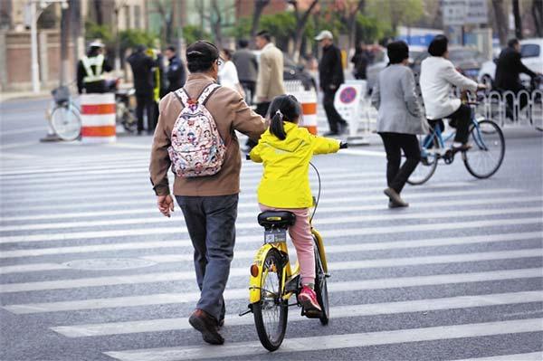
POLYGON ((427 133, 424 111, 415 93, 413 71, 407 67, 409 48, 404 42, 386 46, 388 66, 379 73, 372 92, 372 105, 379 110, 377 133, 383 138, 386 150, 385 195, 390 208, 406 207, 400 193, 407 178, 421 159, 417 134, 427 133), (400 167, 401 151, 405 163, 400 167))

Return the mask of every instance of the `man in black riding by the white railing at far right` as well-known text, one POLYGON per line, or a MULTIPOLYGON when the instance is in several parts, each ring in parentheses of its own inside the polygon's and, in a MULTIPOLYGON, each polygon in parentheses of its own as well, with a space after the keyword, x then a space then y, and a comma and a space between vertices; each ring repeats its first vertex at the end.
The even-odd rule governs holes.
MULTIPOLYGON (((520 90, 525 90, 520 82, 520 73, 524 72, 531 78, 537 76, 534 71, 530 71, 529 68, 520 61, 520 43, 517 39, 511 39, 508 42, 508 47, 503 49, 498 58, 496 67, 496 80, 494 85, 498 90, 507 91, 510 90, 515 94, 518 94, 520 90)), ((507 97, 508 109, 507 116, 512 118, 513 99, 507 97)), ((519 110, 523 109, 528 100, 526 97, 520 97, 519 110)))

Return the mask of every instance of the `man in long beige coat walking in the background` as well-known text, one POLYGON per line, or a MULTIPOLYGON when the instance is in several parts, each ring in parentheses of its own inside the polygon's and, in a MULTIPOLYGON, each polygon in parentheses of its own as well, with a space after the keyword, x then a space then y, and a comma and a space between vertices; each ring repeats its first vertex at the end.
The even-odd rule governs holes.
MULTIPOLYGON (((273 43, 265 30, 256 34, 256 47, 260 50, 260 65, 256 81, 256 113, 266 117, 273 98, 285 93, 283 86, 283 54, 273 43)), ((256 146, 258 139, 247 139, 246 152, 256 146)))

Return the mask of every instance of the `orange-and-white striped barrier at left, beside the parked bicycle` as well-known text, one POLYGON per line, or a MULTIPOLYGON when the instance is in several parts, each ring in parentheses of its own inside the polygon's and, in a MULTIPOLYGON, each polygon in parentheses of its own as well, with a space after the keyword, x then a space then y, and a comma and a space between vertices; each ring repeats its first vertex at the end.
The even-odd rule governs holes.
POLYGON ((81 126, 83 143, 115 142, 115 94, 81 94, 81 126))

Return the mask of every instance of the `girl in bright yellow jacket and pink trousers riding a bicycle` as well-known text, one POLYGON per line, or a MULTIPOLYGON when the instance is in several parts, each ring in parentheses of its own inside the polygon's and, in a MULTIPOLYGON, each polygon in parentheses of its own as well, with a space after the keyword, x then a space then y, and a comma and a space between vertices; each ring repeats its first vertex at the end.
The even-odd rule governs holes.
POLYGON ((306 128, 299 128, 301 106, 292 95, 280 95, 271 101, 270 128, 252 148, 252 161, 262 163, 264 171, 258 187, 258 202, 263 211, 289 211, 296 223, 289 228, 296 248, 302 289, 298 300, 305 309, 318 309, 313 290, 315 284, 315 253, 310 228, 310 160, 314 154, 336 153, 339 141, 316 137, 306 128))

